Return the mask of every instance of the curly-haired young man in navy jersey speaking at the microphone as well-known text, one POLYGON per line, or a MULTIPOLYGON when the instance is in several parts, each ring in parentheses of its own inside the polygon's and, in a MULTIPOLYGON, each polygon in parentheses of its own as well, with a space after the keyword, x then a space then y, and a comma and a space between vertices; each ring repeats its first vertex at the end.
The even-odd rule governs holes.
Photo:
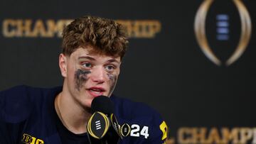
POLYGON ((109 96, 122 133, 119 143, 164 143, 166 124, 159 113, 112 95, 127 38, 119 23, 77 18, 63 30, 59 67, 63 87, 18 86, 0 92, 0 143, 89 143, 92 99, 109 96))

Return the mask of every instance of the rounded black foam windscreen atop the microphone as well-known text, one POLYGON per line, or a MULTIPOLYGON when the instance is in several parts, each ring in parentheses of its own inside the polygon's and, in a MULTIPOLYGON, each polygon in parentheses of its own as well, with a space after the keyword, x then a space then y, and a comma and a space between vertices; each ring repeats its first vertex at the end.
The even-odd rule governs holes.
POLYGON ((100 111, 105 114, 114 113, 114 104, 107 96, 97 96, 92 100, 91 105, 92 113, 100 111))

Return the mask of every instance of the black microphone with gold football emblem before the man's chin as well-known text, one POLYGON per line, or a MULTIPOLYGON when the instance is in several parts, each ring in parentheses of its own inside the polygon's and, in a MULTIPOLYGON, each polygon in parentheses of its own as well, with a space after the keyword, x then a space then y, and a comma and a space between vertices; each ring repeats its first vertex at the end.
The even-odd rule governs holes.
POLYGON ((92 116, 87 123, 87 135, 91 144, 115 144, 122 138, 114 104, 107 96, 97 96, 91 104, 92 116))

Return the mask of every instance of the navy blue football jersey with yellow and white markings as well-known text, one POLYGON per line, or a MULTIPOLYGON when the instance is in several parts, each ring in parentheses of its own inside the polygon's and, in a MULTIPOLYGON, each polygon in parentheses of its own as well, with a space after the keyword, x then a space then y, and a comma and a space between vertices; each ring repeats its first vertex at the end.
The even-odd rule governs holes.
MULTIPOLYGON (((61 91, 18 86, 0 92, 0 143, 89 143, 86 133, 71 133, 60 122, 54 99, 61 91)), ((124 136, 119 143, 164 143, 167 127, 159 113, 142 103, 110 99, 124 136)))

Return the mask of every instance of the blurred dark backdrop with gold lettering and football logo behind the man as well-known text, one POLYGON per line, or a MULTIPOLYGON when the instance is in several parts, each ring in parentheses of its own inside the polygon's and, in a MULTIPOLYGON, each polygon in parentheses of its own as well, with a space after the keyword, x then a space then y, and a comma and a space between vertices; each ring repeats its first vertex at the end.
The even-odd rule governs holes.
POLYGON ((256 143, 254 0, 0 1, 0 90, 54 87, 61 31, 92 15, 122 23, 114 94, 161 113, 167 143, 256 143), (231 59, 231 60, 230 60, 231 59))

